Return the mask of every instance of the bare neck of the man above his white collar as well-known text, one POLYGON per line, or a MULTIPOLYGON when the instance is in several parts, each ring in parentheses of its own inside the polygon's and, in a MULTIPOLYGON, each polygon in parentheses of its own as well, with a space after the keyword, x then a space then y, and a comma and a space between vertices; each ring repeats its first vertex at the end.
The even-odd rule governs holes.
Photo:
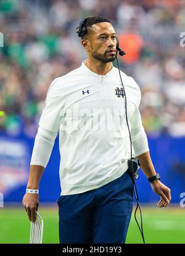
POLYGON ((103 62, 98 59, 88 59, 84 64, 97 75, 106 75, 112 69, 112 62, 103 62))

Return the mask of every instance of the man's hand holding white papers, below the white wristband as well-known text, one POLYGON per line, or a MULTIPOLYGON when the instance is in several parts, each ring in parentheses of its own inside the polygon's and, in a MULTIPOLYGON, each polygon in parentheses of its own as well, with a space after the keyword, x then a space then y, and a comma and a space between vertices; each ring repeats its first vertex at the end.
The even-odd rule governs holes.
POLYGON ((23 207, 28 213, 28 218, 30 221, 35 222, 36 212, 39 205, 39 195, 26 193, 22 200, 23 207))

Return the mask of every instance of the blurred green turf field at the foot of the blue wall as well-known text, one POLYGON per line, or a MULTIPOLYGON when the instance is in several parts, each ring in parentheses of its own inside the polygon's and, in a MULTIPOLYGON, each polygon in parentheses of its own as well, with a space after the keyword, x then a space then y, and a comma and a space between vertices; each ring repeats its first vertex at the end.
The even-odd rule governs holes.
MULTIPOLYGON (((146 243, 185 243, 185 209, 142 207, 146 243)), ((43 243, 59 243, 58 210, 39 207, 44 220, 43 243)), ((137 213, 139 218, 139 212, 137 213)), ((30 221, 23 208, 0 209, 0 243, 29 243, 30 221)), ((126 243, 142 243, 134 210, 126 243)))

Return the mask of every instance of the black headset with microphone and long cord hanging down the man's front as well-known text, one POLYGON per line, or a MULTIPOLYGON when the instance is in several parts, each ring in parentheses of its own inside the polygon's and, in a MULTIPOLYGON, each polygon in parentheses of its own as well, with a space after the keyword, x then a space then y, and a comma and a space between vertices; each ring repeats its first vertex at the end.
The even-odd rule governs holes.
MULTIPOLYGON (((88 19, 88 18, 91 18, 91 17, 87 17, 86 19, 84 20, 81 20, 80 24, 78 25, 78 27, 76 28, 76 33, 78 34, 79 37, 82 37, 85 35, 86 33, 86 26, 84 25, 84 22, 88 19)), ((116 39, 117 39, 117 46, 116 46, 116 49, 117 51, 119 52, 120 56, 123 56, 125 55, 126 53, 120 49, 119 47, 119 39, 118 39, 118 36, 116 36, 116 39)), ((123 91, 124 91, 124 94, 125 94, 125 112, 126 112, 126 123, 127 123, 127 127, 128 127, 128 132, 129 132, 129 136, 130 136, 130 152, 131 152, 131 169, 132 169, 132 173, 133 173, 133 176, 134 176, 134 168, 133 168, 133 154, 132 154, 132 141, 131 141, 131 133, 130 133, 130 128, 129 128, 129 125, 128 125, 128 115, 127 115, 127 104, 126 104, 126 93, 125 93, 125 88, 124 88, 124 85, 123 85, 123 81, 121 79, 121 73, 120 73, 120 67, 119 67, 119 63, 118 63, 118 58, 116 57, 117 59, 117 64, 118 64, 118 72, 119 72, 119 75, 120 75, 120 80, 121 80, 121 85, 123 86, 123 91)), ((136 210, 135 210, 135 213, 134 213, 134 218, 136 220, 136 223, 138 225, 138 228, 139 228, 139 231, 141 233, 141 236, 142 236, 142 241, 144 242, 145 244, 145 241, 144 241, 144 233, 143 233, 143 228, 142 228, 142 212, 141 212, 141 207, 139 205, 139 197, 138 197, 138 189, 136 187, 136 183, 135 183, 135 180, 133 179, 133 183, 134 183, 134 196, 136 198, 136 202, 137 202, 137 206, 136 206, 136 210), (138 210, 138 207, 139 207, 139 211, 140 211, 140 215, 141 215, 141 228, 139 226, 139 223, 138 223, 138 220, 136 218, 136 212, 138 210)))

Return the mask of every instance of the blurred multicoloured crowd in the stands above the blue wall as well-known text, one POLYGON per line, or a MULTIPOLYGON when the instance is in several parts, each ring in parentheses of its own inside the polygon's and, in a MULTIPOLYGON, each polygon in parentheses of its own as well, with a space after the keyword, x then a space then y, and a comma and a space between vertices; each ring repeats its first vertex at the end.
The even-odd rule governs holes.
POLYGON ((34 137, 51 81, 81 65, 84 17, 112 20, 126 52, 121 70, 141 88, 147 134, 185 136, 185 1, 2 0, 0 131, 34 137))

